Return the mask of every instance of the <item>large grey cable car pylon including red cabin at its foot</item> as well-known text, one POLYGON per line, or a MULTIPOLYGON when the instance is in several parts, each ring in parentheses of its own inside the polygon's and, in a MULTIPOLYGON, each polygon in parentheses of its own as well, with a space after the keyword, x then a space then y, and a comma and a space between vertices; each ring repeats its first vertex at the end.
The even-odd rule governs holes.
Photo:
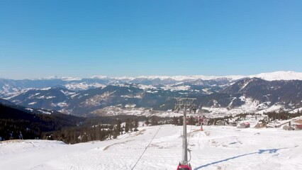
POLYGON ((177 112, 184 111, 184 121, 183 121, 183 135, 182 137, 182 159, 177 166, 177 170, 192 170, 191 164, 188 162, 188 143, 186 140, 186 111, 189 109, 189 112, 196 112, 194 101, 196 98, 175 98, 177 100, 176 107, 177 112))

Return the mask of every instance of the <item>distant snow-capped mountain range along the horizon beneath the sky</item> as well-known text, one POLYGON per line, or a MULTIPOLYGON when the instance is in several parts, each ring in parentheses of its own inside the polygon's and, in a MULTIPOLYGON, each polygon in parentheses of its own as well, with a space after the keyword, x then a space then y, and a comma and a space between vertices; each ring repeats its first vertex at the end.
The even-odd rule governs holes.
POLYGON ((142 84, 142 85, 173 85, 194 81, 223 81, 228 84, 244 78, 260 78, 267 81, 274 80, 302 80, 302 72, 269 72, 250 76, 146 76, 146 77, 106 77, 94 76, 89 78, 48 77, 43 79, 0 79, 0 96, 7 97, 13 93, 20 93, 26 89, 42 89, 53 86, 65 86, 66 89, 79 91, 94 89, 115 84, 142 84))

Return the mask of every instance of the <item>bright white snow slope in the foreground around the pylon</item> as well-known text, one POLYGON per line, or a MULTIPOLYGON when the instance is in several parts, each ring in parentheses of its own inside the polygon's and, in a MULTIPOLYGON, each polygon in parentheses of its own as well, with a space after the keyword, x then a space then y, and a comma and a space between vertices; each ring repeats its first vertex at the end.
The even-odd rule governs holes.
MULTIPOLYGON (((132 169, 160 126, 116 140, 77 145, 47 140, 0 142, 0 169, 132 169)), ((302 169, 302 130, 187 126, 194 169, 302 169)), ((135 169, 177 169, 181 126, 162 125, 135 169)), ((189 156, 188 156, 189 157, 189 156)))

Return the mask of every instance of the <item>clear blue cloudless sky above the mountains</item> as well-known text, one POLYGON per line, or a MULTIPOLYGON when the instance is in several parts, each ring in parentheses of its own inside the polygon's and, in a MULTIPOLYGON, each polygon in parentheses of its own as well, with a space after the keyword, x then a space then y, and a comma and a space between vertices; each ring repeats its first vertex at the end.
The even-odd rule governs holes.
POLYGON ((0 77, 302 72, 301 9, 301 0, 0 0, 0 77))

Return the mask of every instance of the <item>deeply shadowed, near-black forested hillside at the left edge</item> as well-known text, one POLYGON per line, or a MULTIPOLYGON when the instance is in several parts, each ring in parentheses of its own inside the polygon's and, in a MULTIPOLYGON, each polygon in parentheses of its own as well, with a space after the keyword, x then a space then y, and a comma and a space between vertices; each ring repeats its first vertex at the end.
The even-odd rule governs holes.
POLYGON ((72 127, 84 120, 72 115, 30 113, 23 108, 0 103, 0 139, 40 138, 43 132, 72 127))

